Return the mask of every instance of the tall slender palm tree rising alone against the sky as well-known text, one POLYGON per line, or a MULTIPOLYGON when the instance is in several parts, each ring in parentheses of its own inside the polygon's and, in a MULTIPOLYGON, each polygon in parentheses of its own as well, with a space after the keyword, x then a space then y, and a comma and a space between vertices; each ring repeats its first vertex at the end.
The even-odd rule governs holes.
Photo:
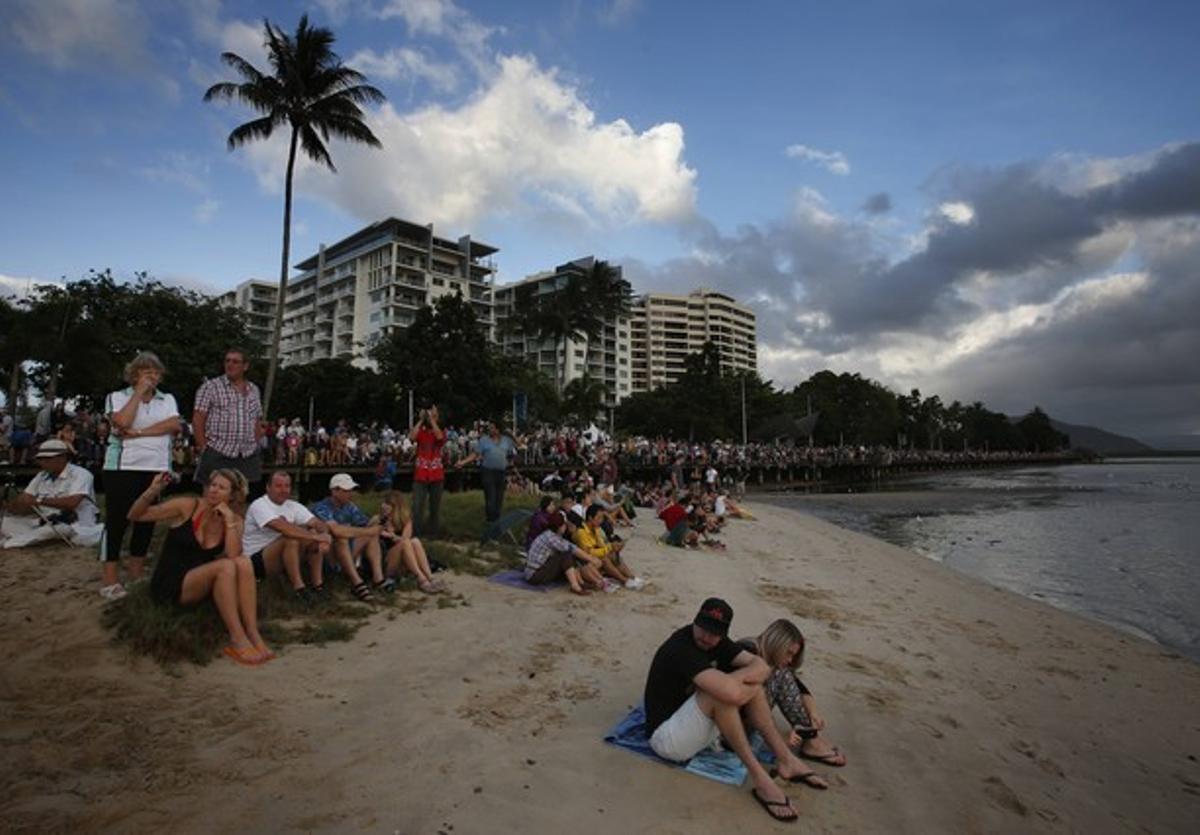
POLYGON ((270 414, 275 373, 280 365, 280 335, 283 331, 283 305, 287 301, 288 257, 292 245, 292 174, 295 169, 296 145, 313 162, 331 172, 334 160, 325 149, 329 137, 380 148, 371 128, 362 121, 361 104, 378 104, 384 95, 366 84, 366 77, 342 64, 332 50, 334 32, 322 26, 310 26, 308 16, 300 18, 295 35, 263 22, 264 46, 272 72, 266 74, 235 53, 223 53, 221 60, 239 76, 240 83, 214 84, 204 101, 236 100, 247 104, 260 118, 239 125, 229 134, 229 150, 254 139, 268 139, 276 128, 290 127, 288 173, 283 191, 283 254, 280 258, 280 300, 275 310, 275 335, 271 340, 271 361, 266 373, 263 412, 270 414))

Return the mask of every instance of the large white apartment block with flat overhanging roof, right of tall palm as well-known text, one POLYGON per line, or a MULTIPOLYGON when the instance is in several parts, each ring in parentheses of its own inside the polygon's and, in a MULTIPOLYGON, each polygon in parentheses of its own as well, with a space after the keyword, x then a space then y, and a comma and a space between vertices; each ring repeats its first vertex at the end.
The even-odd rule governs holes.
POLYGON ((464 235, 456 241, 389 217, 296 264, 283 307, 284 365, 326 358, 370 366, 374 340, 413 324, 416 311, 461 293, 491 335, 492 260, 499 250, 464 235))

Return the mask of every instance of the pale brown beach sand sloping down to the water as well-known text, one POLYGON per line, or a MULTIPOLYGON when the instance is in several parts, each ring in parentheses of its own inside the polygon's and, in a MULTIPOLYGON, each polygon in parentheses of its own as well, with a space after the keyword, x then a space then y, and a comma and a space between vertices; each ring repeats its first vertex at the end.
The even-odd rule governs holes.
MULTIPOLYGON (((90 552, 0 554, 0 821, 29 831, 773 831, 733 788, 601 738, 708 595, 791 617, 848 767, 787 787, 804 831, 1194 831, 1200 666, 802 513, 728 549, 626 551, 642 591, 451 577, 469 606, 380 612, 258 669, 109 644, 90 552)), ((794 829, 794 828, 793 828, 794 829)), ((791 830, 785 830, 791 831, 791 830)))

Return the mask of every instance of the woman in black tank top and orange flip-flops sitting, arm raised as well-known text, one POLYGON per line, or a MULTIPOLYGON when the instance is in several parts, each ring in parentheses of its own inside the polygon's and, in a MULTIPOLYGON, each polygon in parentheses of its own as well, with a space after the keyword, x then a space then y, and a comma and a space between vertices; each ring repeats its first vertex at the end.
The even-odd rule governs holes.
POLYGON ((181 495, 154 504, 170 481, 168 473, 155 477, 130 509, 133 522, 170 523, 150 593, 178 606, 211 597, 229 630, 224 655, 244 666, 270 661, 275 654, 258 632, 254 569, 241 553, 242 519, 233 510, 245 506, 246 477, 236 470, 216 470, 200 498, 181 495))

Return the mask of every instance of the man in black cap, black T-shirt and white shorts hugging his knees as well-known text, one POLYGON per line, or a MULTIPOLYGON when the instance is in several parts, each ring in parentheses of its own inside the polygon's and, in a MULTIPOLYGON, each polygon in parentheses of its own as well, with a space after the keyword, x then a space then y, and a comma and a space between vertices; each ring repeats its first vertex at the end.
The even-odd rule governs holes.
POLYGON ((758 731, 775 752, 778 775, 788 782, 826 788, 780 735, 763 683, 770 667, 730 641, 733 608, 720 597, 706 600, 695 619, 659 647, 646 678, 646 733, 664 759, 685 762, 721 738, 745 764, 755 800, 776 821, 797 815, 782 789, 755 757, 746 737, 758 731))

